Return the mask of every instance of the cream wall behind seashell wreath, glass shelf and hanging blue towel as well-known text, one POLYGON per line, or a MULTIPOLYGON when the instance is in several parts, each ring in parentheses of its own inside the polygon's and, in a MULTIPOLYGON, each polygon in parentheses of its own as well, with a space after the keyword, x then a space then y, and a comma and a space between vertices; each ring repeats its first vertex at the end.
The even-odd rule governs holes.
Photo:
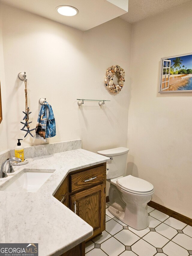
MULTIPOLYGON (((23 138, 24 82, 26 71, 31 128, 35 128, 41 97, 52 105, 56 137, 49 142, 82 139, 93 152, 127 145, 128 86, 131 60, 131 24, 120 18, 86 32, 56 23, 8 5, 2 6, 4 69, 7 88, 8 147, 23 138), (125 86, 117 95, 104 85, 111 65, 125 69, 125 86), (77 98, 111 100, 77 105, 77 98)), ((5 85, 4 85, 5 86, 5 85)), ((1 127, 1 126, 0 126, 1 127)), ((4 131, 1 131, 3 133, 4 131)), ((27 136, 22 145, 42 143, 27 136)))

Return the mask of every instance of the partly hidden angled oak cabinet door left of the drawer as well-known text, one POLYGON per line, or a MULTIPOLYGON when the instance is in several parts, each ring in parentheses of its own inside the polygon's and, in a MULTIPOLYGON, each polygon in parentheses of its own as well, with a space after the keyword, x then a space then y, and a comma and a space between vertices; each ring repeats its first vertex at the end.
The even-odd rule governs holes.
POLYGON ((57 198, 65 206, 69 207, 69 195, 68 195, 68 179, 65 178, 61 186, 58 188, 54 197, 57 198))

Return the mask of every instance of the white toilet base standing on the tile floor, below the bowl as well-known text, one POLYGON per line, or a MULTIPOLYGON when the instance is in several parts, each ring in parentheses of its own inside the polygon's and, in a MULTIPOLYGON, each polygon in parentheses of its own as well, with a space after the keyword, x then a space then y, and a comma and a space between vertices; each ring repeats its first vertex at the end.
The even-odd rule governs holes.
POLYGON ((112 204, 108 210, 120 221, 136 230, 146 229, 149 226, 147 203, 142 205, 128 204, 125 211, 118 210, 112 204))

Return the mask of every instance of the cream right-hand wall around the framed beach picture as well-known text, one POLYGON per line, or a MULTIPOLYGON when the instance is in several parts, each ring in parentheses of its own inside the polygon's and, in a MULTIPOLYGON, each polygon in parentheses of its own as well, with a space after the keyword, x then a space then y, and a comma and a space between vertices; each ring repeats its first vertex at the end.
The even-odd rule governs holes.
POLYGON ((192 216, 192 93, 158 94, 162 57, 192 52, 192 3, 134 24, 127 173, 155 187, 153 201, 192 216))

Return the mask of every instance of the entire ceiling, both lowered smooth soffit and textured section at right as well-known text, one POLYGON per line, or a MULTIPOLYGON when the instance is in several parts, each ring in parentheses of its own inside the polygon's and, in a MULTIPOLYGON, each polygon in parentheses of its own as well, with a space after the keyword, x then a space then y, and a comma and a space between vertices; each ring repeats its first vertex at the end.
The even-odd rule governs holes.
POLYGON ((0 0, 0 2, 86 31, 116 17, 135 23, 192 0, 0 0), (79 14, 73 17, 62 16, 55 11, 59 5, 73 6, 79 10, 79 14))

